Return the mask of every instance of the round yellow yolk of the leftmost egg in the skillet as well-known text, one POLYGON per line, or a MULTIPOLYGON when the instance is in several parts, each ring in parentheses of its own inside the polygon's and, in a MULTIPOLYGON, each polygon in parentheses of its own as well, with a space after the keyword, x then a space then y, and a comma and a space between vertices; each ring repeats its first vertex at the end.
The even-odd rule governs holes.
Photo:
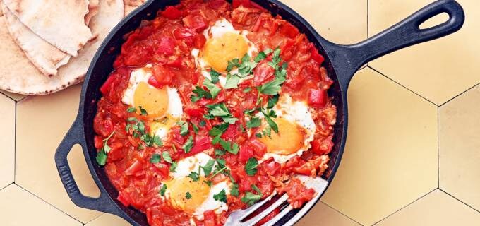
POLYGON ((144 82, 138 83, 133 94, 133 105, 145 109, 149 117, 161 117, 167 113, 168 102, 167 88, 157 89, 144 82))

